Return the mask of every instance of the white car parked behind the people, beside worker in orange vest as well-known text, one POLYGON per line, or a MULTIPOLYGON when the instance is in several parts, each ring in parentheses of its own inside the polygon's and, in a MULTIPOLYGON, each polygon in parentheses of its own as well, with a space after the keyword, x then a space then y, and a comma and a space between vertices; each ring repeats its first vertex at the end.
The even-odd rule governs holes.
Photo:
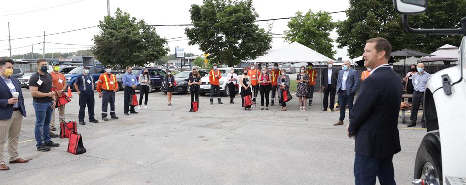
MULTIPOLYGON (((229 96, 230 92, 228 91, 227 81, 228 79, 227 74, 230 73, 230 68, 218 68, 221 72, 222 78, 220 78, 220 93, 223 96, 229 96)), ((238 76, 243 74, 243 68, 234 68, 234 73, 238 76)), ((202 84, 200 85, 199 95, 204 96, 206 93, 210 93, 210 80, 209 74, 201 78, 202 84)), ((238 91, 238 87, 236 87, 236 91, 238 91)))

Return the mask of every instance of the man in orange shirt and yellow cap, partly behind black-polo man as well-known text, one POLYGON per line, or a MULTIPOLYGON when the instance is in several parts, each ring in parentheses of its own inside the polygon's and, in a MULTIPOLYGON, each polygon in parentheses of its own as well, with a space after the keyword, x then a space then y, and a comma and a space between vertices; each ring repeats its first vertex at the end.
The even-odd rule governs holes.
MULTIPOLYGON (((66 89, 66 78, 65 75, 60 73, 60 65, 58 62, 52 63, 53 71, 50 73, 52 75, 52 85, 57 89, 57 94, 59 97, 65 94, 66 89)), ((65 121, 65 105, 62 105, 58 108, 58 122, 65 121)), ((52 121, 50 122, 50 130, 55 131, 55 110, 53 109, 52 121)), ((51 134, 52 135, 52 134, 51 134)))

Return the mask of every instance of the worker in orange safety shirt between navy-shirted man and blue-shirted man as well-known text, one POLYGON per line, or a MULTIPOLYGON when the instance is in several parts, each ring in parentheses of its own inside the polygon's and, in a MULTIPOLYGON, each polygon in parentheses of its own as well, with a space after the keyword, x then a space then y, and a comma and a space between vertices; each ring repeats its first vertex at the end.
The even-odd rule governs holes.
POLYGON ((105 73, 101 74, 97 81, 97 92, 99 98, 102 98, 102 120, 108 121, 107 107, 110 103, 110 118, 118 119, 115 115, 115 92, 118 90, 118 81, 116 81, 115 74, 112 72, 111 66, 105 67, 105 73))

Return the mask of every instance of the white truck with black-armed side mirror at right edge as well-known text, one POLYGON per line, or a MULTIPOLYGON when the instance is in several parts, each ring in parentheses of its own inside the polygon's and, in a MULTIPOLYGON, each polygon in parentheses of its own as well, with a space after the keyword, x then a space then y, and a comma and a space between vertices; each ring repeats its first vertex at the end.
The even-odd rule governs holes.
MULTIPOLYGON (((466 35, 466 17, 458 29, 413 29, 408 15, 427 10, 427 0, 393 0, 411 33, 466 35)), ((466 13, 466 12, 465 12, 466 13)), ((461 41, 458 65, 432 74, 424 93, 427 134, 416 154, 414 185, 466 184, 466 37, 461 41)))

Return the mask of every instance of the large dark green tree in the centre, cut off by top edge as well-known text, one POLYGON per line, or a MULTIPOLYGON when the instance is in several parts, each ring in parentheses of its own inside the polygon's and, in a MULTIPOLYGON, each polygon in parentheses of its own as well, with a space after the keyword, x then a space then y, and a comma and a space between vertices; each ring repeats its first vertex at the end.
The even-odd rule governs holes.
POLYGON ((190 13, 194 27, 185 29, 188 44, 198 44, 212 62, 233 66, 271 48, 272 33, 254 23, 252 0, 204 0, 191 5, 190 13))

